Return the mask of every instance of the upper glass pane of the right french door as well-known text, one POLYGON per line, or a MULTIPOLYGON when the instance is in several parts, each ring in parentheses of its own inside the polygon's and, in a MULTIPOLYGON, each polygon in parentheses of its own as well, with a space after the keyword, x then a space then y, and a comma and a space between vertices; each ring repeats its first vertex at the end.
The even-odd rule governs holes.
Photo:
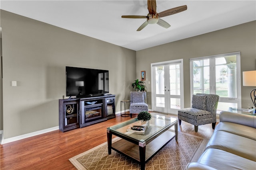
POLYGON ((170 94, 180 95, 180 64, 170 65, 170 94))

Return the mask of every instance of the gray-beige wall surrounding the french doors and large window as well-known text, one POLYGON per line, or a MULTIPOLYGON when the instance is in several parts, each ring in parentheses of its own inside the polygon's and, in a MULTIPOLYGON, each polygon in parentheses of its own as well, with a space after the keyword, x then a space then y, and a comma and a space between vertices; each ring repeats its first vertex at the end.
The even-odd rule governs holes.
MULTIPOLYGON (((140 78, 140 70, 146 70, 149 108, 151 108, 151 63, 183 59, 184 107, 190 107, 189 59, 236 51, 241 51, 241 73, 256 70, 256 21, 136 51, 136 77, 140 78)), ((248 104, 252 105, 250 90, 254 88, 242 86, 243 108, 248 107, 248 104)))

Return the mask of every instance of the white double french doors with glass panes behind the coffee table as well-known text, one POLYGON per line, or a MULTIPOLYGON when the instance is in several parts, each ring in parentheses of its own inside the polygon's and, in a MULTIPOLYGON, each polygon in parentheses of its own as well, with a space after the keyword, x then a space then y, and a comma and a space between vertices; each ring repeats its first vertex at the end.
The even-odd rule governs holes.
POLYGON ((183 59, 151 64, 152 110, 178 113, 184 107, 183 59))

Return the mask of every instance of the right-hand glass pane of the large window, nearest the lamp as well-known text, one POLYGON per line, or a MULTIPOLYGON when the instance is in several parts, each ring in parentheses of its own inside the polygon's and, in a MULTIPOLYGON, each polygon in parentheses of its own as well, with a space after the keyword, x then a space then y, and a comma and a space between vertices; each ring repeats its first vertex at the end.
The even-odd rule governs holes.
POLYGON ((236 56, 216 58, 216 94, 223 98, 237 98, 236 56))

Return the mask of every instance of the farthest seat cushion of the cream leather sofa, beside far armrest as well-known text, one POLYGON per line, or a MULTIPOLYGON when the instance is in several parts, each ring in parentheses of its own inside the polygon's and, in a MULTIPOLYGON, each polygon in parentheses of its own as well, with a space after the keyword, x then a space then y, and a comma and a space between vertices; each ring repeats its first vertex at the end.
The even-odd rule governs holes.
POLYGON ((250 126, 222 121, 218 123, 214 131, 225 131, 256 141, 256 128, 250 126))

